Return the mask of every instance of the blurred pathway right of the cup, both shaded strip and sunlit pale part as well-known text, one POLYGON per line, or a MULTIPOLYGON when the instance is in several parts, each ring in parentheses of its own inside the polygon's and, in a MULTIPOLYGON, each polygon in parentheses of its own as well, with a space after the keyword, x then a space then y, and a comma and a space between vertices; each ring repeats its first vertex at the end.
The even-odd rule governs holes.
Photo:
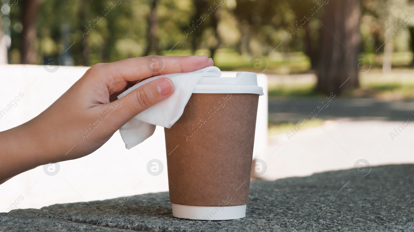
MULTIPOLYGON (((269 120, 303 122, 320 98, 269 98, 269 120), (299 102, 299 104, 296 102, 299 102)), ((271 135, 262 177, 306 176, 327 170, 414 163, 413 102, 334 98, 317 118, 323 125, 271 135), (413 113, 413 114, 412 114, 413 113), (392 134, 391 134, 392 133, 392 134), (359 159, 365 161, 356 162, 359 159), (362 162, 362 163, 360 163, 362 162)))

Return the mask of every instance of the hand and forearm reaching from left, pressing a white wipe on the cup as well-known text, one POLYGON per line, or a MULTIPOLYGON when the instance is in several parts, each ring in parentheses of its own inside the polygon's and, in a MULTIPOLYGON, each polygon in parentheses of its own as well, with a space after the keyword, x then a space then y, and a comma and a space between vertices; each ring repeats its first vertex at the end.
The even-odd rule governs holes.
POLYGON ((94 152, 131 118, 174 91, 170 79, 159 78, 117 99, 127 84, 212 65, 207 56, 149 56, 95 64, 41 114, 0 132, 0 183, 49 162, 94 152))

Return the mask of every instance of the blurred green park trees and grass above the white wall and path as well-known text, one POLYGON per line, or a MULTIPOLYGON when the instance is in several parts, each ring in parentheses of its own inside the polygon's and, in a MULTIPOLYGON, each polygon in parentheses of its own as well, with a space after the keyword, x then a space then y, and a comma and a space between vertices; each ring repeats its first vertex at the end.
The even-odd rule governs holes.
MULTIPOLYGON (((1 3, 2 64, 91 66, 208 54, 222 71, 269 75, 270 97, 414 97, 411 0, 1 3)), ((270 125, 298 122, 272 117, 272 110, 270 125)))

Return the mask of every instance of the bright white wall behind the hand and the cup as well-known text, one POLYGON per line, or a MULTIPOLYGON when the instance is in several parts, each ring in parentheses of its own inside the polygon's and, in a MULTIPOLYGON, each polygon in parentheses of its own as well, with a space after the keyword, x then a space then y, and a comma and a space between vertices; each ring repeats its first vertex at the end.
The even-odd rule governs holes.
MULTIPOLYGON (((0 65, 0 110, 20 92, 24 94, 17 105, 0 118, 0 131, 38 115, 88 69, 60 66, 57 71, 49 72, 50 68, 53 67, 0 65)), ((223 76, 236 76, 236 73, 224 72, 223 76)), ((266 95, 259 100, 256 158, 265 155, 267 149, 267 76, 259 74, 258 82, 266 95)), ((130 150, 125 149, 120 134, 115 133, 96 152, 57 165, 46 167, 50 171, 45 171, 44 166, 37 167, 0 185, 0 212, 15 207, 41 208, 51 204, 168 191, 164 130, 161 127, 157 127, 152 137, 130 150), (164 164, 161 174, 148 173, 147 163, 152 159, 164 164), (19 196, 24 199, 16 201, 19 196)))

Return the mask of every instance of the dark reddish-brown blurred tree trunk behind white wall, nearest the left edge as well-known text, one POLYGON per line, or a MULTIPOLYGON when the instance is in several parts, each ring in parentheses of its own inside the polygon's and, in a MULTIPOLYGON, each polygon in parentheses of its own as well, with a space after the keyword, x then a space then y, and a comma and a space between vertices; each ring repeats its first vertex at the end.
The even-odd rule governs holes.
POLYGON ((36 64, 36 17, 39 9, 39 0, 25 0, 22 2, 22 45, 20 48, 22 64, 36 64))

